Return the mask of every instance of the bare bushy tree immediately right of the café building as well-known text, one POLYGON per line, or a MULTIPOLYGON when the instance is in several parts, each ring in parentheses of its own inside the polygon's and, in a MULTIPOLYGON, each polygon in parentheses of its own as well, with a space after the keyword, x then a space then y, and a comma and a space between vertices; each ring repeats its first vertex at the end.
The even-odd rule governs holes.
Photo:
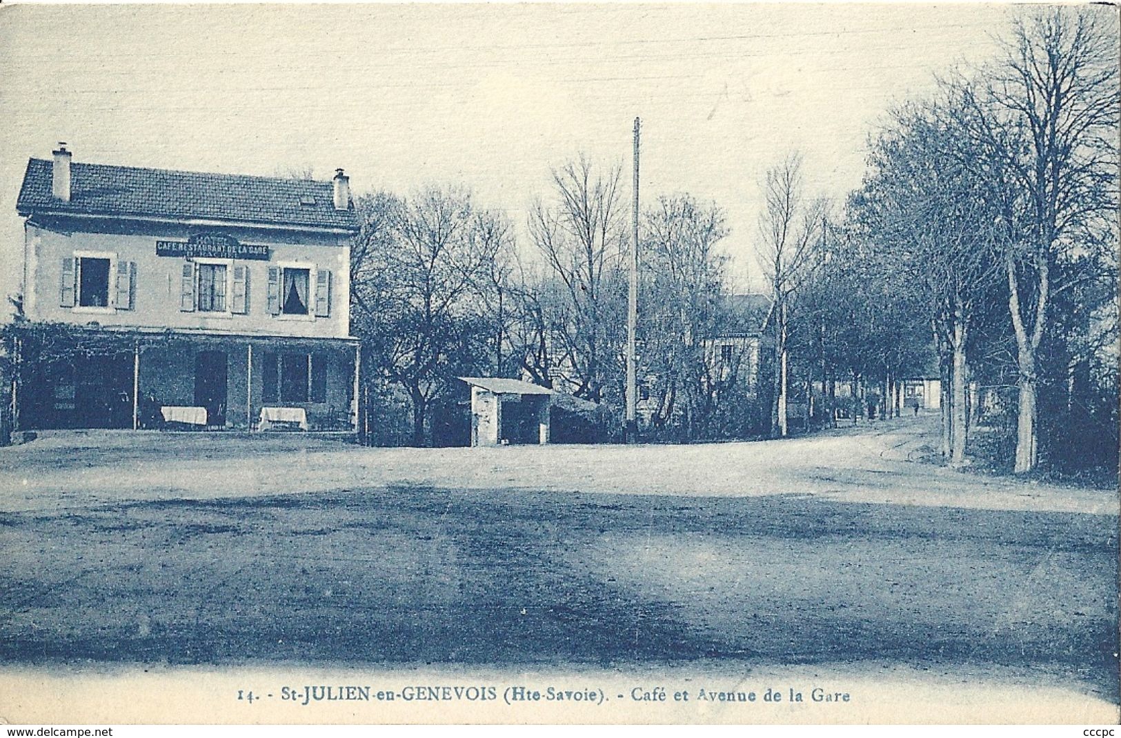
POLYGON ((492 269, 508 229, 457 190, 359 206, 356 325, 372 360, 408 394, 413 443, 423 445, 432 400, 484 353, 492 269))

